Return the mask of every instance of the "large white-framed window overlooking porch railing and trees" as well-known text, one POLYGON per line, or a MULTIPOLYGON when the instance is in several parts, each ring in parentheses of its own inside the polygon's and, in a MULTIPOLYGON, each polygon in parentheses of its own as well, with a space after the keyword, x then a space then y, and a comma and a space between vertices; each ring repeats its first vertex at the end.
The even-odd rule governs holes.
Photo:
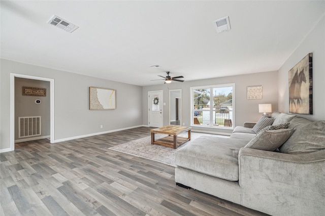
POLYGON ((191 125, 233 128, 235 84, 191 87, 191 125))

